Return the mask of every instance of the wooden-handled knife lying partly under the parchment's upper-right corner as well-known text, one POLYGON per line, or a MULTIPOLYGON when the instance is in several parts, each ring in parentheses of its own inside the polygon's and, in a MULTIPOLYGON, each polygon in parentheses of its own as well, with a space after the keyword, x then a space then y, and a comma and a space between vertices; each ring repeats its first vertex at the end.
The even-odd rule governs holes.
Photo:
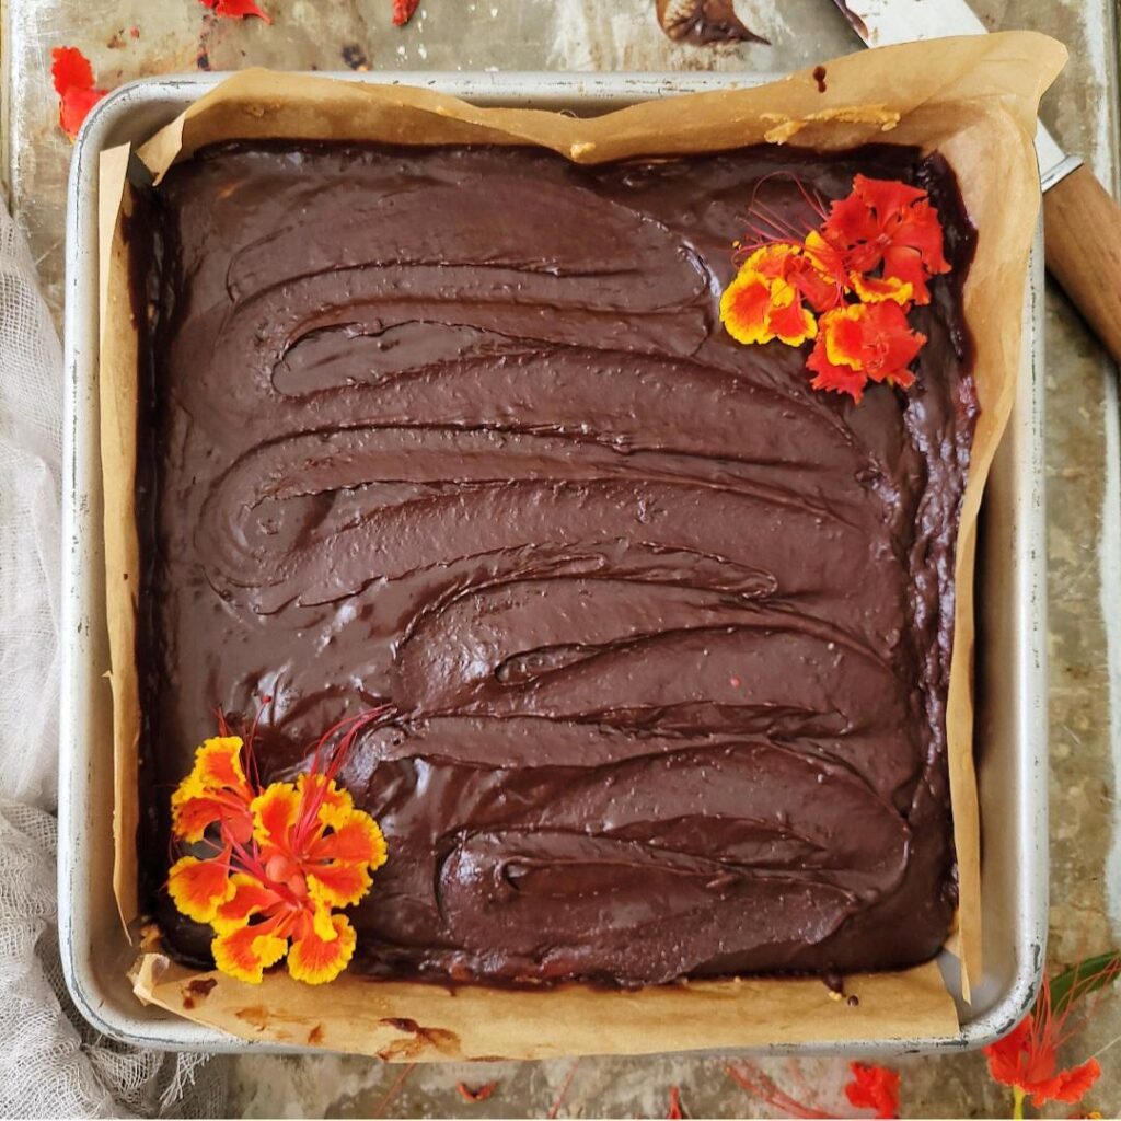
MULTIPOLYGON (((834 2, 870 47, 988 31, 966 0, 834 2)), ((1121 362, 1121 209, 1041 122, 1036 129, 1036 157, 1045 192, 1047 268, 1114 361, 1121 362)))

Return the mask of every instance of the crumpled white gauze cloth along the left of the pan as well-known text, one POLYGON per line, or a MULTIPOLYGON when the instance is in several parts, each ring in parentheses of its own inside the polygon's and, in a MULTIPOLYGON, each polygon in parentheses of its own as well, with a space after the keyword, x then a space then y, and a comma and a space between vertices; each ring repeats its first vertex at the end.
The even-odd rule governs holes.
POLYGON ((221 1117, 223 1064, 91 1028, 58 958, 62 351, 0 205, 0 1117, 221 1117))

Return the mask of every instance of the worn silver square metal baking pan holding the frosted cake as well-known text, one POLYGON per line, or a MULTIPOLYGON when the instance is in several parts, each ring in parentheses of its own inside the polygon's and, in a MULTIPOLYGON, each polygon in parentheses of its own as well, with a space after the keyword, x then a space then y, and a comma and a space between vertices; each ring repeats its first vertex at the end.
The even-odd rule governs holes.
MULTIPOLYGON (((224 75, 122 86, 91 113, 75 146, 66 215, 63 457, 63 682, 59 721, 59 942, 71 995, 126 1043, 215 1051, 314 1051, 251 1043, 145 1007, 126 976, 136 957, 112 891, 113 756, 105 633, 98 405, 100 154, 140 142, 224 75)), ((481 105, 601 113, 637 101, 753 85, 733 74, 340 74, 426 86, 481 105)), ((981 1046, 1030 1007, 1047 930, 1047 651, 1043 470, 1043 252, 1031 254, 1018 397, 989 479, 978 557, 976 726, 982 821, 984 975, 957 999, 956 1035, 775 1045, 757 1053, 879 1054, 981 1046)), ((956 960, 939 964, 958 993, 956 960)))

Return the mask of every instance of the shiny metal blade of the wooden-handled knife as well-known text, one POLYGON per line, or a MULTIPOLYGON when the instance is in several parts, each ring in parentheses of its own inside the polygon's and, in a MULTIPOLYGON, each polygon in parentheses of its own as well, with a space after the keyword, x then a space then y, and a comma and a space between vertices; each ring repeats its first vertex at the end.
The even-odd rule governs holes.
MULTIPOLYGON (((981 22, 966 0, 834 0, 856 34, 870 47, 915 39, 941 39, 947 35, 984 35, 981 22)), ((1082 166, 1077 156, 1067 156, 1043 122, 1036 129, 1036 157, 1044 191, 1054 187, 1082 166)))

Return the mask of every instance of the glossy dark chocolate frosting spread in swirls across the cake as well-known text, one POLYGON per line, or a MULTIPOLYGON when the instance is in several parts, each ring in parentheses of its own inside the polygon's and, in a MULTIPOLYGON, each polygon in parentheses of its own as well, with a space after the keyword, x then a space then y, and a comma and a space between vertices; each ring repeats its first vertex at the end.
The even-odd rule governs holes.
POLYGON ((141 836, 222 708, 263 777, 388 702, 345 781, 390 859, 353 969, 621 984, 929 957, 975 415, 937 158, 237 145, 131 226, 150 330, 141 836), (907 396, 809 388, 719 295, 758 197, 926 186, 952 279, 907 396))

